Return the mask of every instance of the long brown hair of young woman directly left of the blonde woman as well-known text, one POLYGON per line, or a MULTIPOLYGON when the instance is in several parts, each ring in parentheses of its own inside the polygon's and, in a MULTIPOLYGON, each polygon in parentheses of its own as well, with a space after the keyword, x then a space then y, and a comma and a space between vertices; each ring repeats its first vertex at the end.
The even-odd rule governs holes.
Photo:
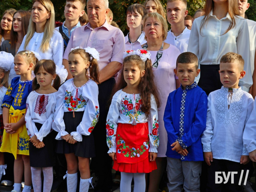
MULTIPOLYGON (((18 10, 17 12, 15 12, 15 14, 16 13, 19 13, 20 16, 21 16, 22 35, 24 37, 26 35, 27 31, 28 31, 28 28, 29 28, 29 19, 30 19, 30 16, 31 16, 31 12, 18 10)), ((13 17, 14 17, 14 15, 13 15, 13 17)), ((13 30, 13 25, 12 25, 12 29, 11 29, 11 37, 12 37, 11 41, 10 41, 11 42, 11 48, 15 49, 15 44, 18 41, 18 33, 13 30)))

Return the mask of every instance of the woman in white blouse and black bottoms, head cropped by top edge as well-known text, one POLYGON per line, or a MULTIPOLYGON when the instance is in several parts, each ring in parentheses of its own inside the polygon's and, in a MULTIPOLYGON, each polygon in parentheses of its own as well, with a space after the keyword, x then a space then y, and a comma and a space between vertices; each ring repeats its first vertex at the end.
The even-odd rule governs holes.
POLYGON ((197 55, 201 69, 196 79, 209 95, 221 88, 218 73, 221 57, 235 52, 244 59, 246 75, 240 80, 241 88, 248 92, 253 84, 250 70, 250 41, 247 22, 238 16, 237 0, 207 0, 204 16, 194 20, 189 38, 188 52, 197 55))

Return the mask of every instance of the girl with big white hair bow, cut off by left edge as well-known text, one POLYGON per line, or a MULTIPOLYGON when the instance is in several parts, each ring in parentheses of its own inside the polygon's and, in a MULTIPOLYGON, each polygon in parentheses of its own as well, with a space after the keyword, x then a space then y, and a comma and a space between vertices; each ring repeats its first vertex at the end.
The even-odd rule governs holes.
MULTIPOLYGON (((7 53, 4 51, 0 52, 0 105, 3 104, 3 97, 6 94, 6 90, 9 87, 8 79, 9 73, 12 68, 14 57, 11 53, 7 53)), ((3 109, 0 108, 0 147, 2 145, 2 137, 3 137, 3 109)), ((5 175, 5 169, 7 165, 4 164, 4 154, 0 152, 0 180, 5 175)))

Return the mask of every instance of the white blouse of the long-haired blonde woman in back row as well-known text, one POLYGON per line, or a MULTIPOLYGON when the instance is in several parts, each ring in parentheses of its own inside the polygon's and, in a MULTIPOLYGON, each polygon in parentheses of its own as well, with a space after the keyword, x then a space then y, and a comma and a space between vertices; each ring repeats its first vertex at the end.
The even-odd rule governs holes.
POLYGON ((41 59, 53 60, 56 65, 61 66, 62 59, 63 59, 63 51, 64 51, 63 38, 61 34, 56 29, 54 29, 52 38, 50 39, 49 49, 45 52, 42 52, 40 48, 43 37, 44 37, 44 32, 42 33, 35 32, 25 49, 24 47, 25 41, 26 41, 26 35, 25 35, 18 52, 23 50, 35 51, 39 53, 39 55, 41 56, 41 59))

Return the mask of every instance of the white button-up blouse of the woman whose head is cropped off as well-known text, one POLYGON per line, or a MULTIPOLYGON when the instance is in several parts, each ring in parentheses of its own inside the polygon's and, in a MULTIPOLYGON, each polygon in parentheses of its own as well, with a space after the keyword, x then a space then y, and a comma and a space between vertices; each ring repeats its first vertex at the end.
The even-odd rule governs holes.
MULTIPOLYGON (((218 20, 215 15, 212 15, 211 11, 209 19, 200 33, 203 18, 204 16, 198 17, 193 22, 187 51, 197 55, 199 65, 220 64, 221 57, 227 52, 242 55, 246 74, 243 79, 240 79, 239 86, 242 90, 248 92, 253 84, 253 79, 250 68, 250 39, 246 19, 236 16, 236 27, 224 34, 231 21, 228 13, 226 17, 218 20)), ((195 79, 197 82, 199 77, 195 79)))

